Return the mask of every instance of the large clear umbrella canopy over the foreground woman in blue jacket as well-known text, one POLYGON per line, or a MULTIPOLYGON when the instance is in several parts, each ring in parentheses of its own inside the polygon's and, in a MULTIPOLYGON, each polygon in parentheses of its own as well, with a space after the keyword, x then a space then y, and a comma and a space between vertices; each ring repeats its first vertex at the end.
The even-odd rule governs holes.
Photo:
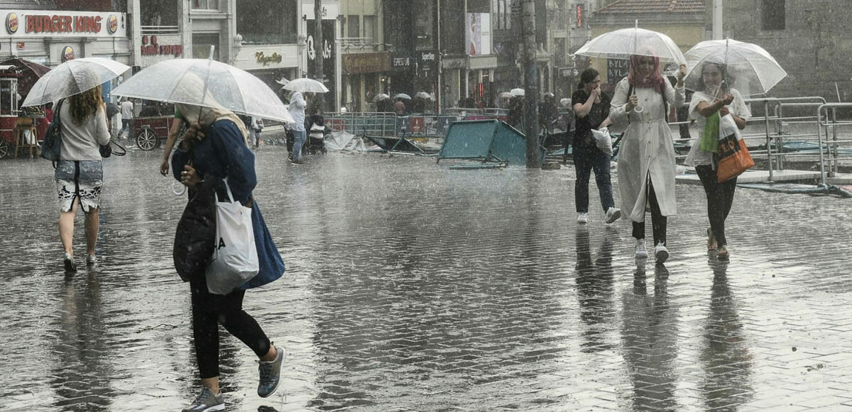
POLYGON ((211 59, 160 61, 121 83, 112 90, 112 94, 193 106, 222 107, 231 112, 293 123, 293 117, 284 103, 261 79, 211 59))

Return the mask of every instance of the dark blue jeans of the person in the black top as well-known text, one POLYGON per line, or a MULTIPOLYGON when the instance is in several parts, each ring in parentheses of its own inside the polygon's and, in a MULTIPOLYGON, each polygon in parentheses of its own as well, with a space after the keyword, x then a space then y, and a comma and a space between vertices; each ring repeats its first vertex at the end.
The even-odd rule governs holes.
POLYGON ((577 213, 589 212, 589 179, 595 169, 597 190, 601 192, 603 211, 615 207, 613 201, 613 183, 609 178, 609 155, 596 146, 575 146, 573 150, 574 169, 577 170, 577 185, 574 186, 574 203, 577 213))

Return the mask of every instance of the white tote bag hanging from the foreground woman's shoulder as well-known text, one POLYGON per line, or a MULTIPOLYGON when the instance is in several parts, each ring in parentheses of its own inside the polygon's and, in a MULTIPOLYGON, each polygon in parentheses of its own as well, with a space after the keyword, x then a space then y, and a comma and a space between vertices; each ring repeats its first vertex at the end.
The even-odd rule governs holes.
POLYGON ((216 197, 216 249, 205 271, 207 289, 216 295, 231 293, 260 271, 251 209, 235 202, 227 179, 223 181, 227 200, 216 197))

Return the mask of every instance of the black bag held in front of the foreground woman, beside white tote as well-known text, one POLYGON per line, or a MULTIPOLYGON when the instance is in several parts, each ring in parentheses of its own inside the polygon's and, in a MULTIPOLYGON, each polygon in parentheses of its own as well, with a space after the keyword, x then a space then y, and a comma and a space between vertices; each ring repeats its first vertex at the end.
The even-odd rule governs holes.
POLYGON ((216 243, 216 186, 207 179, 190 193, 187 207, 177 222, 172 258, 184 282, 204 277, 216 243))

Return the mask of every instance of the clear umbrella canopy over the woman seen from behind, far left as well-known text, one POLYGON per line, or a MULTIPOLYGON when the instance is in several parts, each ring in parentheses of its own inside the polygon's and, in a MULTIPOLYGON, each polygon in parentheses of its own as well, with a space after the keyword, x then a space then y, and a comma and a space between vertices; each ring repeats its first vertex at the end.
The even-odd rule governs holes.
POLYGON ((41 106, 83 93, 127 72, 130 66, 101 57, 68 60, 32 85, 21 106, 41 106))

